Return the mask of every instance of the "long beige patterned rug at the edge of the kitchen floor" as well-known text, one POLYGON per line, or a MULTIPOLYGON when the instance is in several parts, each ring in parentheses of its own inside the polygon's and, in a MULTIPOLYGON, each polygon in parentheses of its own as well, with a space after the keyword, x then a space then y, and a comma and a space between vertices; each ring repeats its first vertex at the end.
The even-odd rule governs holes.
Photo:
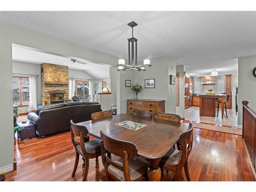
POLYGON ((239 129, 239 128, 217 126, 217 125, 210 125, 210 124, 203 124, 203 123, 193 123, 193 125, 194 125, 194 127, 199 128, 199 129, 231 133, 231 134, 235 134, 235 135, 242 135, 242 129, 239 129))

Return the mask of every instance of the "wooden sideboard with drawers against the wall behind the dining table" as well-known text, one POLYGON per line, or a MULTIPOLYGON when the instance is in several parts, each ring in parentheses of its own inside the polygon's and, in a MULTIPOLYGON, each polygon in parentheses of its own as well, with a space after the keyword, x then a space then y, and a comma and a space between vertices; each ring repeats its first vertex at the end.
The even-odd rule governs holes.
POLYGON ((127 99, 127 114, 131 114, 132 110, 144 112, 162 112, 165 113, 164 100, 146 100, 146 99, 127 99))

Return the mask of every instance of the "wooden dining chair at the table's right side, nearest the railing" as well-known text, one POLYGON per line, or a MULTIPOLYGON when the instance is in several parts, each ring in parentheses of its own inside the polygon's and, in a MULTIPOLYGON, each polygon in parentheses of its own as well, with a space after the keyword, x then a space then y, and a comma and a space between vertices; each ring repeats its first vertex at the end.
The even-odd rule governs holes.
POLYGON ((161 159, 159 166, 165 170, 175 172, 176 181, 181 181, 182 168, 184 167, 186 179, 191 181, 187 159, 193 146, 193 124, 189 123, 188 130, 181 134, 177 145, 178 150, 171 148, 161 159))

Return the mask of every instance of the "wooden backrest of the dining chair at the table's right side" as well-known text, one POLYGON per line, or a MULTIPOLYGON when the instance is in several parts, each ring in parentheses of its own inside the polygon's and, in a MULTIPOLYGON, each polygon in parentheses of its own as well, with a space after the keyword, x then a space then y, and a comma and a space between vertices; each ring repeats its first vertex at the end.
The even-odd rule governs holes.
POLYGON ((194 129, 193 124, 189 123, 188 130, 180 135, 180 138, 177 142, 178 148, 180 150, 184 142, 186 141, 187 156, 191 152, 192 146, 193 146, 193 129, 194 129))

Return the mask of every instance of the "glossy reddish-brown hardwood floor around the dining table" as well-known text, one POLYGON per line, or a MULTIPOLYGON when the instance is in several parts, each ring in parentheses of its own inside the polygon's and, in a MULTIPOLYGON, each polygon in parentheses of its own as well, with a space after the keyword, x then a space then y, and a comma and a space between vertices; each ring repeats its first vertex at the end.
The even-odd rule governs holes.
MULTIPOLYGON (((90 137, 93 139, 93 137, 90 137)), ((80 158, 74 178, 75 151, 70 132, 45 138, 34 138, 15 145, 17 170, 6 174, 6 181, 81 181, 80 158)), ((194 145, 188 160, 192 181, 254 181, 249 160, 238 135, 194 129, 194 145)), ((169 172, 162 177, 169 180, 169 172)), ((183 173, 183 178, 185 178, 183 173)), ((88 181, 106 181, 104 167, 99 158, 90 159, 88 181)))

